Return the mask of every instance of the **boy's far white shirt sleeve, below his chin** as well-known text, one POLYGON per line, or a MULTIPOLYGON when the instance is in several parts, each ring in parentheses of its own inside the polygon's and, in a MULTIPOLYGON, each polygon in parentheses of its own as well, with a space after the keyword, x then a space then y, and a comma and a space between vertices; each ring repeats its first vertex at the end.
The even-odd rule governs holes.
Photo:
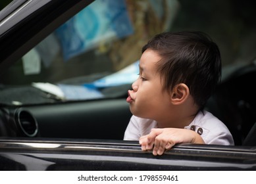
POLYGON ((124 141, 138 141, 140 137, 140 126, 136 120, 136 116, 132 116, 124 132, 124 141))

